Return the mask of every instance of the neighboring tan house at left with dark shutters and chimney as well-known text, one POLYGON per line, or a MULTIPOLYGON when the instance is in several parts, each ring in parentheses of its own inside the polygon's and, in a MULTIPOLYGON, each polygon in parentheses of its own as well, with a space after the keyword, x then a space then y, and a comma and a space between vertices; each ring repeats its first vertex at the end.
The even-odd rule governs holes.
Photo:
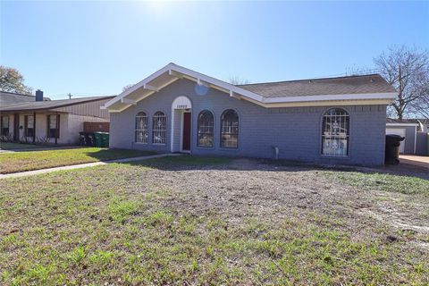
POLYGON ((0 105, 1 139, 55 144, 78 143, 84 122, 109 122, 109 114, 100 106, 113 98, 45 100, 41 90, 36 91, 36 97, 29 97, 31 101, 16 102, 21 95, 17 97, 13 104, 0 105))

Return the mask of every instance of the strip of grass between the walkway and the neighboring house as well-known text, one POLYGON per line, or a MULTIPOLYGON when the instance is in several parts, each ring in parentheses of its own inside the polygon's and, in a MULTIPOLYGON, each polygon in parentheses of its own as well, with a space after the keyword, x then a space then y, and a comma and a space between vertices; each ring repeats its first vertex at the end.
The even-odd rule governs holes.
POLYGON ((0 154, 0 173, 24 172, 153 154, 146 151, 98 147, 6 153, 0 154))

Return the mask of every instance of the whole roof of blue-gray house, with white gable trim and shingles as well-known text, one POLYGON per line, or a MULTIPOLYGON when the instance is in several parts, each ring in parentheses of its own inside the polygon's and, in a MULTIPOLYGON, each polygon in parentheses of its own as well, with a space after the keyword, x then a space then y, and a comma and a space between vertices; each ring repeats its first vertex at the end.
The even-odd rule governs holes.
POLYGON ((180 79, 219 89, 231 97, 264 107, 309 105, 388 105, 397 95, 380 75, 350 76, 318 80, 293 80, 248 85, 232 85, 198 71, 169 63, 105 104, 109 112, 121 112, 145 97, 180 79))

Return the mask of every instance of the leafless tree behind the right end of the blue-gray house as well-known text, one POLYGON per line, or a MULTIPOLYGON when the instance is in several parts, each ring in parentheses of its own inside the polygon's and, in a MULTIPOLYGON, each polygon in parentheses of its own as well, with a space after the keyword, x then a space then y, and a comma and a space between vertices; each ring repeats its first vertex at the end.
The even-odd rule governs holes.
POLYGON ((393 114, 402 119, 406 114, 427 116, 429 101, 429 54, 407 46, 391 47, 388 53, 374 58, 380 74, 398 90, 391 104, 393 114))

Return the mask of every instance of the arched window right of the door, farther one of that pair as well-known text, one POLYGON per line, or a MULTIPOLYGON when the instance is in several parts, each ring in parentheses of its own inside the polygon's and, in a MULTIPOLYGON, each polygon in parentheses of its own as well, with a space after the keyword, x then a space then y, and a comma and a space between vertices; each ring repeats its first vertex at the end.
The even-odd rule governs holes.
POLYGON ((239 147, 239 114, 227 109, 221 116, 221 147, 239 147))

